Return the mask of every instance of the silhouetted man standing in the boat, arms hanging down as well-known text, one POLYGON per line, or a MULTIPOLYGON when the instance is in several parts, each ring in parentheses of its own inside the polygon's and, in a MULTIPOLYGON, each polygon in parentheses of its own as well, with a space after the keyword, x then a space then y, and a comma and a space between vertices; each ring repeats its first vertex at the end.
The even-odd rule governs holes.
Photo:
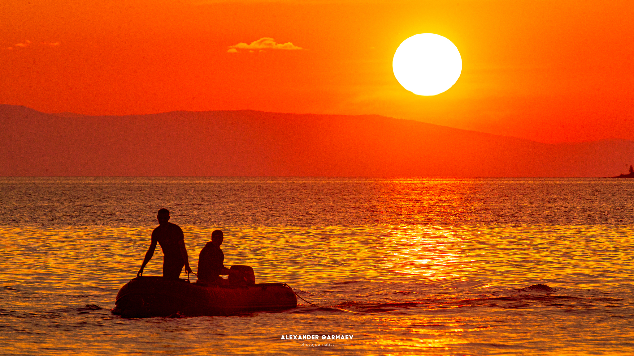
POLYGON ((148 251, 145 253, 143 265, 141 265, 139 272, 136 272, 136 276, 139 277, 143 275, 143 269, 154 255, 157 243, 159 243, 161 250, 163 250, 163 277, 178 279, 178 277, 181 276, 183 265, 185 266, 185 271, 191 273, 190 262, 187 257, 187 250, 185 249, 183 230, 181 230, 181 227, 178 225, 169 222, 169 210, 165 208, 159 210, 157 219, 159 219, 159 226, 152 231, 150 248, 148 248, 148 251))

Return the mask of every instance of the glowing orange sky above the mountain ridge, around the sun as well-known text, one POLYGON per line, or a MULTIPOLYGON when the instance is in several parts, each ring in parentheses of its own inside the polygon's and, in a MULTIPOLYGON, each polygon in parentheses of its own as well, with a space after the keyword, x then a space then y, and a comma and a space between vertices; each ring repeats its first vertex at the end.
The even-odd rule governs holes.
POLYGON ((92 115, 373 113, 547 143, 634 139, 633 10, 631 1, 8 0, 0 103, 92 115), (453 41, 463 60, 458 82, 431 97, 403 89, 391 67, 400 42, 424 32, 453 41), (227 52, 262 37, 302 49, 227 52))

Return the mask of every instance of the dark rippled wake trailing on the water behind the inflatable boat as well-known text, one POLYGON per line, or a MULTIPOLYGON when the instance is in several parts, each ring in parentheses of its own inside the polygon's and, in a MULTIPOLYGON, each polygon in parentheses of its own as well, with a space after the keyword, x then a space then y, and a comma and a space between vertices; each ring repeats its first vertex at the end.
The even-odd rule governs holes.
POLYGON ((626 300, 611 293, 592 290, 553 288, 532 284, 524 288, 450 288, 427 283, 377 283, 346 281, 325 288, 297 289, 313 305, 298 304, 297 314, 420 314, 456 308, 474 310, 554 309, 575 312, 597 308, 614 308, 626 300), (342 287, 344 286, 344 287, 342 287))

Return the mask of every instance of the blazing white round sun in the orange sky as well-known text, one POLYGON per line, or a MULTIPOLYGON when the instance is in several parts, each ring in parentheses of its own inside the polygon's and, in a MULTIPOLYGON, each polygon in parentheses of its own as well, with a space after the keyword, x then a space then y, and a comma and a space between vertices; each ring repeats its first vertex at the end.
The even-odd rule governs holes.
POLYGON ((417 95, 436 95, 455 84, 462 72, 462 58, 453 42, 437 34, 417 34, 401 43, 394 53, 396 80, 417 95))

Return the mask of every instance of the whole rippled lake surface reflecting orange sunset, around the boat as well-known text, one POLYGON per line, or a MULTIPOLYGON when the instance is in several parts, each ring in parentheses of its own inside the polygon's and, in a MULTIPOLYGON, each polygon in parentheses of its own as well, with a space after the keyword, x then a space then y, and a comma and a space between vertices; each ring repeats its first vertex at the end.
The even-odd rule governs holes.
POLYGON ((3 355, 634 353, 634 180, 0 177, 0 193, 3 355), (110 314, 163 207, 194 269, 222 229, 225 265, 315 305, 110 314))

